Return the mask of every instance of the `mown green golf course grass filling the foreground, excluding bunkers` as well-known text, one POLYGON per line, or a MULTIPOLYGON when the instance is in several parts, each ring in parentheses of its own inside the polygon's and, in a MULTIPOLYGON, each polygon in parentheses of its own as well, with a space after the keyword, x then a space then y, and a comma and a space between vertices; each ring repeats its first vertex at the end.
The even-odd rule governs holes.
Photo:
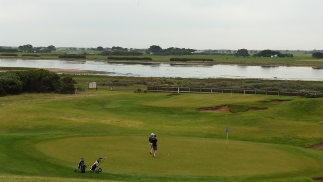
POLYGON ((323 175, 322 151, 308 148, 323 141, 322 102, 111 90, 2 97, 0 180, 311 181, 323 175), (222 105, 239 112, 198 111, 222 105), (151 132, 156 158, 148 151, 151 132), (89 168, 105 156, 100 174, 74 172, 79 158, 89 168))

